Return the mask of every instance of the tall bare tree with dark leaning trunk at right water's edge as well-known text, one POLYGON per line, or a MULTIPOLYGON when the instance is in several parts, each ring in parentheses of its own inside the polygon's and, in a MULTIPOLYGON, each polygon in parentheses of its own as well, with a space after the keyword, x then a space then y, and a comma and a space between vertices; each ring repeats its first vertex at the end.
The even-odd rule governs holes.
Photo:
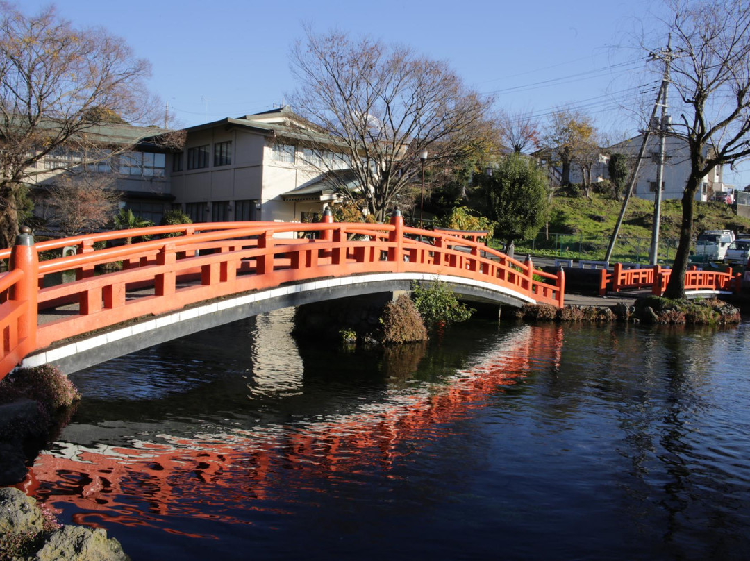
POLYGON ((703 178, 715 166, 750 156, 750 10, 745 0, 666 4, 670 19, 664 24, 672 49, 654 56, 670 57, 676 118, 668 133, 687 143, 691 166, 682 195, 679 245, 664 293, 678 299, 685 297, 693 201, 703 178))

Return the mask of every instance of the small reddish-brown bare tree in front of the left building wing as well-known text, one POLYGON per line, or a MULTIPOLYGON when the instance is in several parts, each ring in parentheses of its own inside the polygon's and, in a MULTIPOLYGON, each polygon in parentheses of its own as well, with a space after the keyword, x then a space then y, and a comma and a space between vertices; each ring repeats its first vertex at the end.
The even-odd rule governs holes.
POLYGON ((52 223, 65 236, 77 236, 107 226, 117 211, 120 193, 113 175, 60 175, 49 184, 46 202, 52 223))

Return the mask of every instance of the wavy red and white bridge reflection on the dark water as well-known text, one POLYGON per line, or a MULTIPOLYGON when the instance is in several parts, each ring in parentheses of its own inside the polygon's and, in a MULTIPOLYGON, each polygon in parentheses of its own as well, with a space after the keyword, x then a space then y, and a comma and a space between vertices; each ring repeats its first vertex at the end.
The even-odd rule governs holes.
POLYGON ((298 484, 314 488, 314 481, 339 472, 389 469, 400 455, 449 434, 446 425, 484 407, 504 386, 534 368, 559 365, 562 329, 526 326, 504 343, 506 350, 445 383, 394 391, 385 403, 304 427, 189 439, 160 435, 161 443, 134 441, 130 447, 63 444, 55 454, 40 455, 20 487, 48 505, 75 505, 81 512, 74 522, 89 526, 145 525, 181 533, 170 527, 169 517, 249 523, 227 513, 266 510, 267 500, 287 492, 290 469, 298 484), (226 508, 210 508, 216 505, 226 508))

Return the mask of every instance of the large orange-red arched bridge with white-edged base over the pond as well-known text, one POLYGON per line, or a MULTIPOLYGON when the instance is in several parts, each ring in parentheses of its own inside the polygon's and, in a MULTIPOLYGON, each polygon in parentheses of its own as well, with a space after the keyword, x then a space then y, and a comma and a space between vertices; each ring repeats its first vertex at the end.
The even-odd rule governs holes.
POLYGON ((153 226, 36 244, 26 232, 0 251, 8 258, 0 379, 22 361, 72 372, 274 308, 409 290, 412 281, 440 278, 467 299, 558 307, 565 284, 562 271, 535 270, 477 236, 406 227, 400 215, 387 224, 153 226))

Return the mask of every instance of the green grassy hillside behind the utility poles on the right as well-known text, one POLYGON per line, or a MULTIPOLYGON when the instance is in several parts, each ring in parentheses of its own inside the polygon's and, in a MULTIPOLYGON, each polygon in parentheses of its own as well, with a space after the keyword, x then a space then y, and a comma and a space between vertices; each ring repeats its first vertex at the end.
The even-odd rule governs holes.
MULTIPOLYGON (((750 219, 738 217, 723 202, 695 202, 693 237, 704 229, 732 229, 750 233, 750 219)), ((622 201, 600 194, 556 196, 550 211, 548 229, 535 240, 523 242, 521 251, 574 259, 603 260, 622 201)), ((674 256, 679 223, 680 201, 670 199, 661 205, 659 260, 668 263, 674 256)), ((632 198, 619 229, 613 259, 643 263, 648 260, 653 223, 653 202, 632 198)))

